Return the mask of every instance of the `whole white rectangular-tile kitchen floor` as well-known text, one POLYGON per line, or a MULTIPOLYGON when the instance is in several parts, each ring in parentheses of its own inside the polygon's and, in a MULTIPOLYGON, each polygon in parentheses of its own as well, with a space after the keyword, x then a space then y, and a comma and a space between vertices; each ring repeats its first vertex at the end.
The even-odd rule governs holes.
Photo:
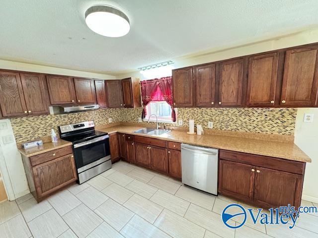
MULTIPOLYGON (((220 214, 233 202, 118 162, 40 203, 30 194, 0 203, 0 237, 318 238, 318 214, 302 214, 292 230, 248 220, 237 230, 229 229, 220 214)), ((317 206, 308 201, 302 204, 317 206)), ((231 221, 232 225, 238 222, 231 221)))

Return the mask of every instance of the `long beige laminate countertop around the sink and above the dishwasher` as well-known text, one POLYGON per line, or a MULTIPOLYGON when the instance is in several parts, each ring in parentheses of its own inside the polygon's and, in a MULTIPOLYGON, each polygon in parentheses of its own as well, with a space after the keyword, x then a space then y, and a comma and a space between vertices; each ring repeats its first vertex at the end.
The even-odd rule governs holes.
POLYGON ((120 132, 132 135, 147 136, 161 140, 175 141, 192 145, 206 146, 223 150, 244 152, 249 154, 264 155, 281 159, 312 162, 297 145, 293 142, 252 139, 239 136, 227 135, 189 135, 185 131, 172 130, 163 136, 153 136, 147 134, 134 133, 142 126, 117 125, 112 127, 99 128, 97 130, 108 132, 108 134, 120 132))

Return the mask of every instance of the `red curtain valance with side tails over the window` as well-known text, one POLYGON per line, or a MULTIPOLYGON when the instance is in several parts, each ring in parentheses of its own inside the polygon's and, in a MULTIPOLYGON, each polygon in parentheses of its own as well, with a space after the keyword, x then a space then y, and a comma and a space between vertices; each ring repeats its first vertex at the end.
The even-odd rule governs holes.
POLYGON ((151 101, 165 101, 170 105, 172 109, 171 118, 175 121, 175 111, 173 108, 173 97, 172 97, 172 77, 155 78, 151 80, 144 80, 140 83, 141 96, 143 100, 143 113, 142 118, 144 119, 147 115, 146 106, 151 101))

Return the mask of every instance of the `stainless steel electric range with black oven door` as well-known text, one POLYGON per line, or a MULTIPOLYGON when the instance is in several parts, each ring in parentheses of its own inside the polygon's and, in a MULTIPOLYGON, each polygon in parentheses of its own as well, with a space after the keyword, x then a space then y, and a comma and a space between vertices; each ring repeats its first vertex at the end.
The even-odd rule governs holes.
POLYGON ((93 121, 59 126, 59 133, 73 143, 79 184, 111 168, 109 135, 96 131, 93 121))

